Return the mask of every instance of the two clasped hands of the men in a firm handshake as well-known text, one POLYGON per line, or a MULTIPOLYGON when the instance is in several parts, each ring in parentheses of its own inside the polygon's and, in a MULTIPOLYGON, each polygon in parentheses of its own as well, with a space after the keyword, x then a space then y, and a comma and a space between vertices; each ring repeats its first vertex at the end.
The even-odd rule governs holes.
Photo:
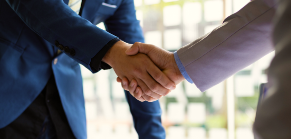
POLYGON ((155 101, 185 79, 174 54, 150 44, 118 41, 102 61, 113 68, 117 81, 139 101, 155 101))

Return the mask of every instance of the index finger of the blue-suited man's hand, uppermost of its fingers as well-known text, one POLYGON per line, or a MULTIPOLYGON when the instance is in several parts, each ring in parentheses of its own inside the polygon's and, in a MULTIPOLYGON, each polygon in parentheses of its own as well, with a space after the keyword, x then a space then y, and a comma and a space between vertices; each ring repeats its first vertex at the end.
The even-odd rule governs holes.
MULTIPOLYGON (((169 90, 174 90, 176 85, 173 81, 171 81, 161 70, 159 70, 156 66, 147 66, 146 71, 151 75, 151 77, 157 81, 164 88, 169 90)), ((153 90, 152 90, 153 91, 153 90)), ((155 91, 154 91, 155 92, 155 91)), ((169 93, 168 90, 164 90, 164 92, 160 92, 158 94, 165 96, 169 93)))

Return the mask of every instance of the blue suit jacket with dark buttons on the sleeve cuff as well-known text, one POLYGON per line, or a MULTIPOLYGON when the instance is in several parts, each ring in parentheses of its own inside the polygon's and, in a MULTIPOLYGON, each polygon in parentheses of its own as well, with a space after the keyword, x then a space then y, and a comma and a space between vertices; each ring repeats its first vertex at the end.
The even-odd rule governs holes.
MULTIPOLYGON (((79 64, 95 73, 90 61, 110 40, 118 36, 132 44, 144 41, 133 0, 86 0, 82 17, 68 1, 0 0, 0 128, 31 104, 53 74, 73 134, 86 139, 79 64), (102 21, 107 31, 95 26, 102 21), (75 54, 56 55, 55 41, 75 54)), ((126 96, 140 139, 163 139, 158 101, 139 102, 128 92, 126 96)))

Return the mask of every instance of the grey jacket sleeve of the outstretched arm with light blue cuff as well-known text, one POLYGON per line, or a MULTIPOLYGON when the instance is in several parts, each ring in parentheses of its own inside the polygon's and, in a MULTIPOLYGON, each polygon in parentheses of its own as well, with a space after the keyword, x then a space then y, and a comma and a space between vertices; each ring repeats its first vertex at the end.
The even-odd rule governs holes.
POLYGON ((203 92, 274 50, 276 0, 252 0, 212 32, 177 50, 194 84, 203 92))

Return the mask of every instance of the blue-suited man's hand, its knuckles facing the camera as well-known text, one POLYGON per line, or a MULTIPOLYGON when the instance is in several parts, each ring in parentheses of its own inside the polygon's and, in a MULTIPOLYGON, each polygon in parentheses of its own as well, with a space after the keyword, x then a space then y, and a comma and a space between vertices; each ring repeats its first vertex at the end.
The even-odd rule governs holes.
MULTIPOLYGON (((148 94, 138 100, 155 101, 175 89, 175 83, 164 75, 145 54, 126 55, 124 52, 131 46, 131 44, 118 41, 109 49, 102 61, 110 65, 118 77, 134 79, 133 85, 140 86, 138 91, 140 95, 142 92, 148 94)), ((133 92, 131 94, 134 96, 133 92)))

